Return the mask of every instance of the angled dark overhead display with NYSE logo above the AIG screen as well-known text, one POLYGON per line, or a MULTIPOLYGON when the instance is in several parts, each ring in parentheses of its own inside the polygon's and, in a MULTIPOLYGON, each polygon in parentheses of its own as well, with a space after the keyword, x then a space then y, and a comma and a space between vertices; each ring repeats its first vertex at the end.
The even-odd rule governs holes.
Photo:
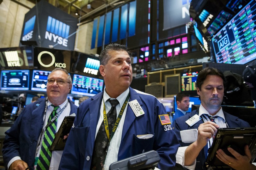
POLYGON ((190 16, 197 22, 204 37, 216 34, 249 0, 192 0, 190 16))

